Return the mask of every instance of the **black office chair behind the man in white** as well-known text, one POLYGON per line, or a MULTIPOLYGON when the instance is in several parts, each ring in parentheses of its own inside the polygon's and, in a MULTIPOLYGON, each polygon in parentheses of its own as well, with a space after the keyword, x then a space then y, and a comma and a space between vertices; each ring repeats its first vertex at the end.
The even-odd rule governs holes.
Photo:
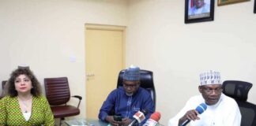
POLYGON ((256 126, 256 105, 247 102, 252 86, 252 83, 238 80, 226 80, 222 84, 224 95, 234 98, 239 106, 242 115, 241 126, 256 126))

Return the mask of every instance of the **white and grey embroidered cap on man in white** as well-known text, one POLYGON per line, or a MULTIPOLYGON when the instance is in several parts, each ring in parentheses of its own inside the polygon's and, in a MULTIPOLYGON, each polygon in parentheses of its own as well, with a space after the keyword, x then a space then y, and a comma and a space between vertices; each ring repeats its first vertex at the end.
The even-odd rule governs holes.
POLYGON ((200 74, 200 85, 222 84, 220 80, 220 72, 210 70, 200 74))

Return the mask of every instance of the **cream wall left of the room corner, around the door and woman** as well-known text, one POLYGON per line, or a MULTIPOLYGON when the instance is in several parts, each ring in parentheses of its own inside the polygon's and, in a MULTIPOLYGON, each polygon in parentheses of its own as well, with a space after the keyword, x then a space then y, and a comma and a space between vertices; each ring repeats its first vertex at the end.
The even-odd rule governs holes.
POLYGON ((0 80, 21 64, 30 65, 42 86, 45 77, 67 76, 71 95, 83 96, 85 117, 86 23, 125 26, 126 1, 1 0, 0 80))

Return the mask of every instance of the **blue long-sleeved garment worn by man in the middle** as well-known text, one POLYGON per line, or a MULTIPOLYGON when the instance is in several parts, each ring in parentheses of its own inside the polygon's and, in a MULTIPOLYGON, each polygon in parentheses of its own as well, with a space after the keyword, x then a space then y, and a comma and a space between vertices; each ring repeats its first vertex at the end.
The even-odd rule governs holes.
MULTIPOLYGON (((147 109, 149 113, 145 115, 145 120, 148 120, 155 110, 155 105, 149 91, 146 91, 144 88, 139 87, 134 95, 128 96, 123 87, 119 87, 107 96, 107 100, 100 108, 99 119, 104 121, 112 109, 115 109, 115 115, 129 117, 130 119, 133 119, 137 111, 147 109)), ((144 124, 145 120, 141 124, 144 124)))

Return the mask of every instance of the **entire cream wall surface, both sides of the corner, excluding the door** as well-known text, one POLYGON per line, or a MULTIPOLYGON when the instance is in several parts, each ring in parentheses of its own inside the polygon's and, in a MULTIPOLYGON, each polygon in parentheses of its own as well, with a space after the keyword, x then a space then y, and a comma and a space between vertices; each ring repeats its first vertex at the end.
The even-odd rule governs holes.
MULTIPOLYGON (((184 24, 180 0, 1 0, 0 80, 27 64, 42 85, 45 77, 68 76, 72 95, 85 96, 85 23, 127 26, 126 65, 154 72, 156 110, 167 124, 198 95, 204 70, 256 83, 253 4, 215 6, 214 21, 184 24)), ((248 101, 255 99, 254 85, 248 101)))

